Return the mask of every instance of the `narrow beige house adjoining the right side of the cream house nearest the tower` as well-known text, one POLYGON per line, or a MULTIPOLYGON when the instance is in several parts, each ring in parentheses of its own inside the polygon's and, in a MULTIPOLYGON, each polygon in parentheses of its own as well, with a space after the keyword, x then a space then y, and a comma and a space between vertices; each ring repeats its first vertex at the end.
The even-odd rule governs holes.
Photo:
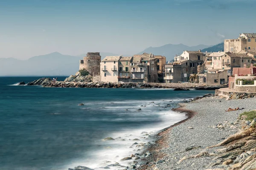
POLYGON ((118 62, 118 81, 131 82, 131 61, 133 57, 121 57, 118 62))

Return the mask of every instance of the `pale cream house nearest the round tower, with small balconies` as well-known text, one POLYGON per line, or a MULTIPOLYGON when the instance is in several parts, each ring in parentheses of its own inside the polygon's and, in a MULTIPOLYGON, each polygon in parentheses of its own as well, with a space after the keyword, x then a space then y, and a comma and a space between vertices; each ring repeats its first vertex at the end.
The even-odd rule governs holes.
POLYGON ((118 82, 118 62, 121 56, 107 56, 101 61, 101 81, 118 82))

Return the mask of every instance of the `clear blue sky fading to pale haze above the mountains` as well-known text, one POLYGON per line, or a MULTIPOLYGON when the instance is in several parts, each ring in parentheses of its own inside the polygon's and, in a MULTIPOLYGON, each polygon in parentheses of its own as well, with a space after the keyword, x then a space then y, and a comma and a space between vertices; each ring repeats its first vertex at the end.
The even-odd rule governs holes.
POLYGON ((256 32, 256 0, 0 0, 0 58, 137 54, 256 32))

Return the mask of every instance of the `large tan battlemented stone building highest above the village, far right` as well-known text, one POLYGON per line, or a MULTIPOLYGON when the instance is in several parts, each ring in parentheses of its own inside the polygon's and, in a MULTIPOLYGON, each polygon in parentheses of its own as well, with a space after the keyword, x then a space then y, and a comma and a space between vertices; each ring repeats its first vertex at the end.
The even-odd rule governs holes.
POLYGON ((224 51, 239 53, 245 49, 256 49, 256 34, 242 33, 237 39, 224 40, 224 51))

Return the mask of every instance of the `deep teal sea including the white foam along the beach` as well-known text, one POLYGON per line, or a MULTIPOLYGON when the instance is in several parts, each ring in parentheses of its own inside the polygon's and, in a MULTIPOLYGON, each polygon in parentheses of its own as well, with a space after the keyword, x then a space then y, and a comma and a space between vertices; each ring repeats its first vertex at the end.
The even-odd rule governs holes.
POLYGON ((116 162, 128 166, 131 160, 120 160, 143 150, 135 142, 154 142, 150 136, 186 119, 184 113, 171 111, 179 102, 214 93, 17 85, 39 78, 0 77, 3 170, 68 170, 116 162), (115 140, 102 141, 107 137, 115 140))

